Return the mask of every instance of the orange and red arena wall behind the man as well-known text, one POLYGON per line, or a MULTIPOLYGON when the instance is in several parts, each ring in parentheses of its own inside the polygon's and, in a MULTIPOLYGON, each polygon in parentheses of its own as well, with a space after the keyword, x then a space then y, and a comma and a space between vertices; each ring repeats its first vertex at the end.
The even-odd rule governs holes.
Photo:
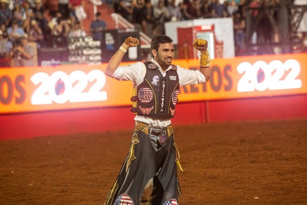
MULTIPOLYGON (((212 60, 211 79, 206 87, 202 85, 199 85, 199 87, 190 86, 180 90, 179 96, 181 100, 176 106, 176 115, 172 119, 173 125, 238 120, 306 118, 307 85, 305 85, 305 82, 307 81, 307 74, 304 69, 307 66, 306 56, 307 54, 299 54, 212 60), (238 65, 242 65, 242 61, 249 61, 254 65, 257 62, 262 62, 262 65, 263 62, 267 62, 266 65, 271 65, 270 62, 275 59, 278 59, 281 65, 282 63, 286 65, 287 59, 296 59, 299 62, 300 70, 296 78, 294 78, 294 81, 298 80, 299 84, 293 81, 293 84, 284 84, 279 89, 276 90, 275 88, 274 90, 270 85, 271 81, 268 81, 266 76, 262 79, 262 70, 266 73, 269 69, 269 67, 263 67, 256 68, 257 78, 255 79, 257 81, 253 85, 256 88, 254 91, 245 92, 244 89, 246 87, 238 86, 238 81, 242 80, 243 76, 248 73, 247 70, 245 73, 236 72, 239 67, 238 65), (230 83, 232 86, 230 86, 230 83), (263 87, 265 84, 269 86, 266 89, 263 87), (293 86, 297 86, 297 88, 293 88, 293 86), (240 89, 243 89, 244 92, 238 92, 240 89)), ((276 63, 276 60, 274 62, 276 63)), ((194 64, 197 65, 198 60, 177 61, 176 63, 191 65, 190 69, 194 69, 194 64)), ((99 67, 99 70, 103 71, 103 68, 99 67)), ((92 72, 92 68, 87 68, 86 66, 43 69, 36 67, 25 70, 24 68, 1 69, 0 139, 73 135, 77 132, 100 132, 122 129, 130 129, 132 133, 134 114, 130 112, 129 98, 131 84, 128 82, 106 77, 104 89, 107 92, 107 99, 98 103, 95 101, 71 103, 68 99, 65 99, 65 102, 59 102, 59 100, 63 99, 56 97, 68 92, 68 86, 63 91, 64 94, 52 96, 55 101, 51 101, 49 104, 42 105, 43 101, 40 101, 40 98, 33 98, 34 92, 37 94, 41 85, 43 83, 46 84, 43 81, 40 81, 41 84, 34 83, 33 76, 37 76, 37 73, 40 73, 40 76, 47 76, 46 79, 52 81, 51 78, 55 73, 65 76, 63 72, 67 72, 71 76, 71 73, 76 71, 76 69, 85 73, 81 76, 86 76, 86 73, 92 72), (45 72, 45 74, 41 74, 42 72, 45 72), (30 85, 31 80, 33 85, 30 85)), ((275 72, 277 71, 272 71, 272 76, 275 72)), ((284 75, 290 75, 289 73, 291 72, 292 70, 288 69, 284 75)), ((54 79, 57 80, 58 78, 54 79)), ((62 83, 68 85, 68 79, 70 78, 62 79, 62 83)), ((39 78, 39 80, 41 79, 39 78)), ((252 81, 253 79, 246 81, 246 84, 251 86, 252 81)), ((279 81, 282 81, 282 83, 286 82, 287 76, 279 81)), ((50 96, 50 92, 54 92, 50 88, 56 90, 55 86, 58 85, 54 85, 53 82, 52 86, 48 90, 50 96)), ((50 97, 48 92, 45 94, 41 92, 41 96, 44 98, 50 97)))

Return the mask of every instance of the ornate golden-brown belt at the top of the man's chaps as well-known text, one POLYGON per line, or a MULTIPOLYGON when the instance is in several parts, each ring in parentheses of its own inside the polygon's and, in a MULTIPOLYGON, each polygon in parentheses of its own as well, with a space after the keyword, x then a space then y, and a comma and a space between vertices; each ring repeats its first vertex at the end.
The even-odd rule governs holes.
POLYGON ((142 130, 146 134, 152 134, 156 136, 159 136, 162 131, 166 131, 168 137, 173 133, 171 124, 166 127, 160 127, 160 126, 151 126, 143 122, 136 121, 135 132, 139 130, 142 130))

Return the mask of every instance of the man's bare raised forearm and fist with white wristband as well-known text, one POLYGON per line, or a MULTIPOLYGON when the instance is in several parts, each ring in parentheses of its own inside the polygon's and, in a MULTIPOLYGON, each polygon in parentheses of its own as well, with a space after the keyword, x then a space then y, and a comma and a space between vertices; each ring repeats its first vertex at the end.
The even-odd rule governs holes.
POLYGON ((139 44, 140 44, 139 39, 131 36, 127 37, 125 39, 125 42, 121 45, 121 47, 112 56, 111 60, 109 61, 105 70, 105 74, 111 77, 113 73, 116 71, 116 69, 119 67, 121 60, 123 59, 127 50, 131 47, 136 47, 139 44))

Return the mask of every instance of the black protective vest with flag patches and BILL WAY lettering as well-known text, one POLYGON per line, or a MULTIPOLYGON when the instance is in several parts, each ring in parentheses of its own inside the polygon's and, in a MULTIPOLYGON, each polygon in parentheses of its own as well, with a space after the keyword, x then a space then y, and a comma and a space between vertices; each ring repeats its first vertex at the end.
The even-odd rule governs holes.
POLYGON ((173 117, 178 101, 179 77, 177 67, 171 65, 165 77, 151 61, 144 62, 146 74, 143 82, 134 89, 131 112, 142 116, 173 117))

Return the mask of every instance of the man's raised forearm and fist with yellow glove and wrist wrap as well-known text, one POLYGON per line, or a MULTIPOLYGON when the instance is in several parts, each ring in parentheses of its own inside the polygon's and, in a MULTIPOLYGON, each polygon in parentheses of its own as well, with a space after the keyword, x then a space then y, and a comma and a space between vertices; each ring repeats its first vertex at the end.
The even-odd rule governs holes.
POLYGON ((195 39, 193 43, 193 47, 199 51, 201 51, 201 67, 200 71, 203 73, 203 75, 206 78, 206 81, 210 79, 210 56, 209 52, 207 50, 208 48, 208 42, 204 39, 195 39))

